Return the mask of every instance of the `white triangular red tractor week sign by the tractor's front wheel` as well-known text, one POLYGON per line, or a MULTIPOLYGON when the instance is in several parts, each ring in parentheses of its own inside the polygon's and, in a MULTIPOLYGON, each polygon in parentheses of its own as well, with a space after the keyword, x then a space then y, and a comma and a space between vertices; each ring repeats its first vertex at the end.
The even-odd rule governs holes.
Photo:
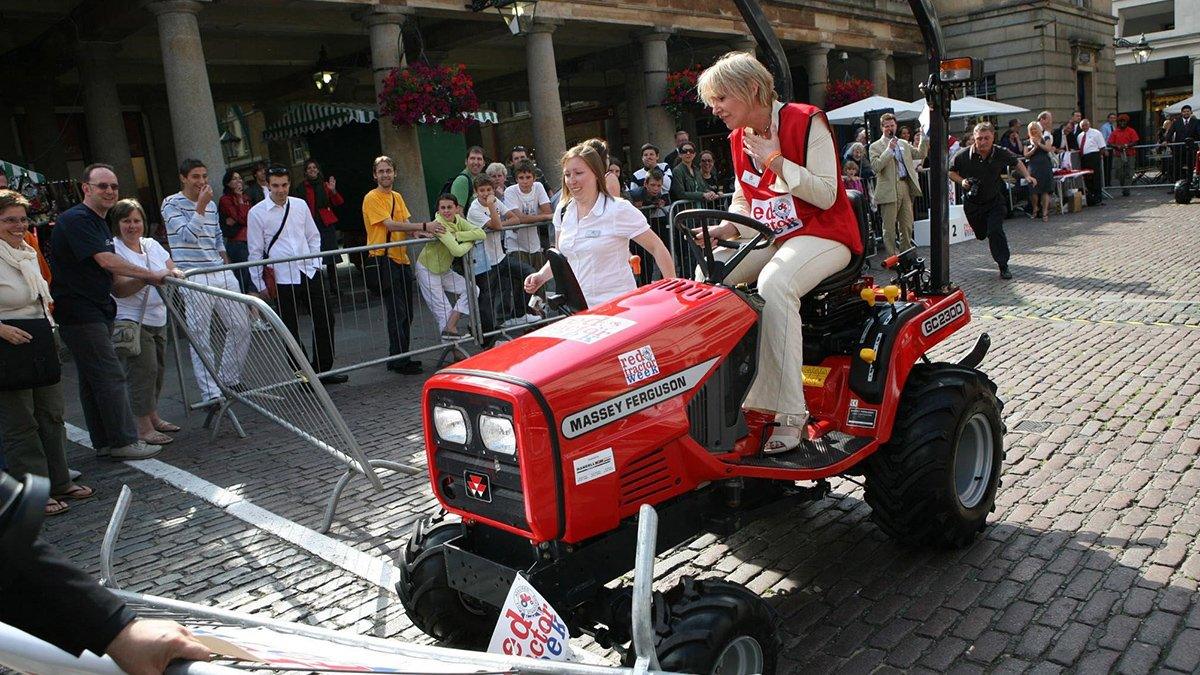
POLYGON ((566 622, 546 598, 517 572, 487 651, 528 658, 571 661, 571 634, 566 622))

